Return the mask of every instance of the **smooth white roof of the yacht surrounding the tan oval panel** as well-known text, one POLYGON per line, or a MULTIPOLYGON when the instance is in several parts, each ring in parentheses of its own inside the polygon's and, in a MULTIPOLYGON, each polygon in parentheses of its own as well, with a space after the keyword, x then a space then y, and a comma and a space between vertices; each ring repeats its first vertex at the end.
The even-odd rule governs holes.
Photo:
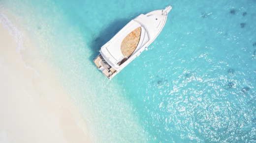
POLYGON ((141 14, 130 21, 100 50, 101 55, 112 67, 118 68, 118 63, 125 57, 121 51, 123 39, 138 27, 141 27, 141 39, 143 38, 143 40, 139 41, 137 48, 141 48, 151 37, 156 35, 154 22, 146 15, 141 14))

